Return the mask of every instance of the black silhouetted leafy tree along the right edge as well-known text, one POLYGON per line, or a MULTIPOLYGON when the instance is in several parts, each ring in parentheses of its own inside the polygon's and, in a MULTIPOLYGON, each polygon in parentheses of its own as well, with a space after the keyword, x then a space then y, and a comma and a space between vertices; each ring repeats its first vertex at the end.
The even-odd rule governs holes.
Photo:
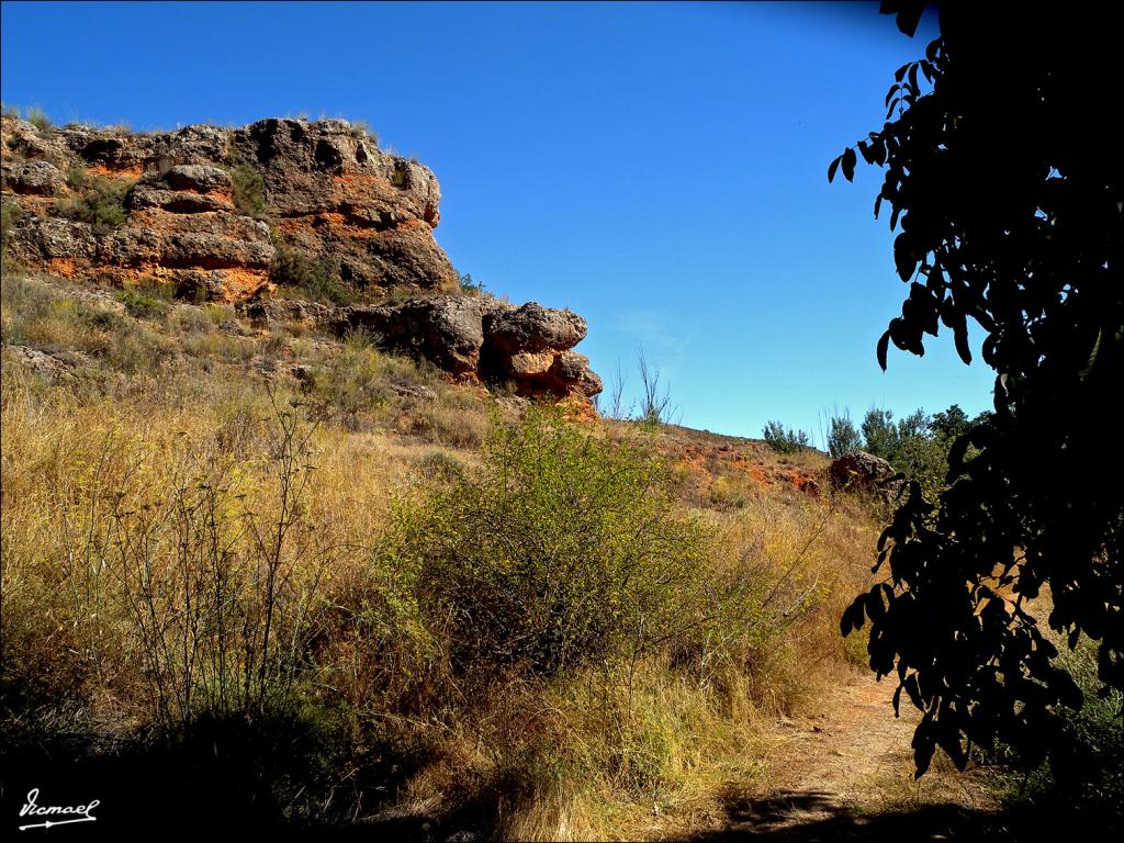
MULTIPOLYGON (((910 37, 922 9, 882 3, 910 37)), ((946 491, 912 484, 879 541, 885 581, 841 622, 871 622, 871 669, 896 673, 896 710, 905 692, 924 713, 918 777, 936 746, 960 767, 971 743, 1046 752, 1082 699, 1051 638, 1099 642, 1104 690, 1124 688, 1124 78, 1106 9, 941 4, 885 126, 828 169, 885 169, 874 216, 899 230, 909 292, 880 365, 890 343, 924 354, 941 325, 969 363, 972 320, 996 372, 946 491)))

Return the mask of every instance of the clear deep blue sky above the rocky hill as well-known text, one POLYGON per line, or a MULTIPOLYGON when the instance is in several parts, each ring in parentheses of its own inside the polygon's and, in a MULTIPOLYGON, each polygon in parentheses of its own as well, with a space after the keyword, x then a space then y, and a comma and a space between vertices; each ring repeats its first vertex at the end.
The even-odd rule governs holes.
POLYGON ((682 423, 819 439, 833 406, 990 406, 951 337, 874 344, 900 309, 878 171, 827 163, 881 125, 915 39, 876 4, 10 3, 2 97, 137 129, 365 119, 442 184, 437 239, 515 302, 570 307, 607 383, 636 348, 682 423))

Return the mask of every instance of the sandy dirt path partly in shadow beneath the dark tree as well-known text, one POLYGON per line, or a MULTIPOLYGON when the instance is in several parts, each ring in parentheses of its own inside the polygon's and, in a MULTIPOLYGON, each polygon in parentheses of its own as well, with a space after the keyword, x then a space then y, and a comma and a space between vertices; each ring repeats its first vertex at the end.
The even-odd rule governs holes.
POLYGON ((895 718, 895 683, 854 678, 825 691, 815 709, 785 724, 768 792, 731 792, 727 826, 706 839, 778 841, 1003 840, 1007 835, 981 771, 958 772, 943 756, 913 779, 917 713, 895 718))

